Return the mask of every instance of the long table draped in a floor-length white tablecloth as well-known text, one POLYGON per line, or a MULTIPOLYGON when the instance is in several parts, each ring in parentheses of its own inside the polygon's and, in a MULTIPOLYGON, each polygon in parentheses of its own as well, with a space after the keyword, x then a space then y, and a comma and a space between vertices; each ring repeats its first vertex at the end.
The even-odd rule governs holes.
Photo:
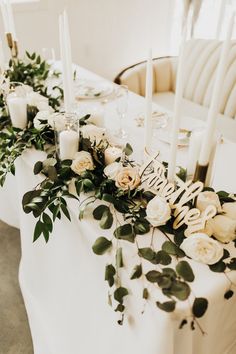
MULTIPOLYGON (((78 68, 80 78, 101 78, 78 68)), ((134 156, 140 160, 143 128, 135 118, 144 112, 144 99, 130 93, 126 128, 134 156)), ((105 121, 115 128, 117 117, 115 100, 104 104, 105 121)), ((156 107, 159 109, 158 107, 156 107)), ((184 117, 184 128, 203 123, 184 117)), ((169 146, 163 143, 161 154, 167 157, 169 146)), ((187 149, 178 152, 179 162, 186 164, 187 149)), ((218 149, 214 186, 236 191, 236 144, 225 140, 218 149)), ((166 314, 148 302, 142 314, 141 289, 132 283, 132 295, 127 300, 127 318, 123 326, 117 324, 118 315, 107 303, 108 287, 104 281, 104 265, 108 258, 97 257, 91 246, 98 236, 109 235, 91 218, 91 210, 78 220, 78 205, 69 201, 72 221, 57 221, 50 241, 32 243, 35 219, 22 211, 21 200, 33 189, 40 177, 34 176, 34 163, 43 160, 43 152, 30 150, 18 158, 16 176, 7 177, 0 190, 0 218, 20 229, 22 257, 19 281, 29 318, 34 354, 235 354, 236 353, 236 297, 224 300, 229 282, 222 274, 209 271, 207 266, 191 261, 196 274, 193 289, 197 296, 209 299, 209 309, 198 327, 179 329, 180 320, 188 313, 182 303, 175 314, 166 314)), ((148 239, 147 236, 146 239, 148 239)), ((160 235, 160 240, 161 240, 160 235)), ((145 238, 143 238, 145 245, 145 238)), ((124 258, 132 263, 131 245, 125 245, 124 258)), ((109 256, 107 256, 109 257, 109 256)), ((236 272, 230 274, 236 282, 236 272)))

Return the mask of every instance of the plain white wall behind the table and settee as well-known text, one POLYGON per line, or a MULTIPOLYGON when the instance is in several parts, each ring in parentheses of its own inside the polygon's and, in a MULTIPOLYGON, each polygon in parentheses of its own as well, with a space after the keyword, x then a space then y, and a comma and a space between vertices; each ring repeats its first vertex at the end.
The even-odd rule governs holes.
POLYGON ((150 43, 154 56, 169 53, 171 0, 40 0, 13 8, 21 50, 54 47, 57 58, 58 14, 66 8, 74 62, 110 79, 144 60, 150 43))

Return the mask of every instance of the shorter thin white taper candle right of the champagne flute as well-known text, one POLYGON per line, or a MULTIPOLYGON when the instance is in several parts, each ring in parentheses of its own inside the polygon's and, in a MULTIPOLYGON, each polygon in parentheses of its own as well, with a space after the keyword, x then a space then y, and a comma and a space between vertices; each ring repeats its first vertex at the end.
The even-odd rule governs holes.
POLYGON ((146 68, 146 115, 145 115, 145 148, 147 152, 152 139, 152 50, 149 49, 146 68))

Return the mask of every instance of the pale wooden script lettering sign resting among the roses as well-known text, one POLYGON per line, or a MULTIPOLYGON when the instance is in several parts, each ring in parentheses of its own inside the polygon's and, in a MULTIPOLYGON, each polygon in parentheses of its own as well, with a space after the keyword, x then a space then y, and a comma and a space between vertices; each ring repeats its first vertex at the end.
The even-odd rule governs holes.
POLYGON ((201 231, 205 228, 206 221, 216 215, 216 207, 208 206, 203 212, 194 207, 194 201, 203 190, 203 183, 183 182, 175 176, 175 183, 167 180, 165 166, 157 160, 157 156, 150 157, 140 169, 141 183, 145 190, 159 195, 169 203, 175 221, 174 229, 186 225, 185 236, 201 231))

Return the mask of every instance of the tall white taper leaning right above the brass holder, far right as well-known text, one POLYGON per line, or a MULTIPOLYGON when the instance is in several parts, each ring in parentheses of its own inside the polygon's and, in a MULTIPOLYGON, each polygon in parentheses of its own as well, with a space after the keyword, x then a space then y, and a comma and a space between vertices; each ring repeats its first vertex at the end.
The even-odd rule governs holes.
POLYGON ((227 67, 228 54, 230 51, 230 45, 231 45, 230 39, 233 32, 234 19, 235 19, 235 13, 232 15, 230 19, 226 39, 222 45, 220 60, 217 67, 216 78, 215 78, 215 83, 214 83, 213 93, 212 93, 212 100, 211 100, 208 117, 207 117, 206 132, 204 134, 200 157, 198 161, 199 165, 201 166, 208 165, 210 160, 210 154, 212 151, 213 141, 215 138, 216 120, 217 120, 217 115, 219 113, 221 89, 222 89, 222 83, 224 81, 225 71, 227 67))

